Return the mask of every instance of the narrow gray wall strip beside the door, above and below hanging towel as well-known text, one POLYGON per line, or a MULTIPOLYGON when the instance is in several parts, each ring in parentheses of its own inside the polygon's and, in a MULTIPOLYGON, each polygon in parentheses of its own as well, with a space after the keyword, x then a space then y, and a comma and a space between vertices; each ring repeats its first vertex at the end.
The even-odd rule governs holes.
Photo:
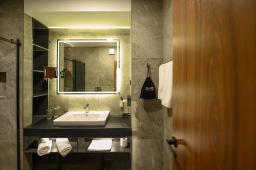
MULTIPOLYGON (((173 16, 172 16, 172 0, 163 1, 163 60, 173 60, 173 48, 172 48, 172 34, 173 34, 173 16)), ((168 149, 168 144, 165 139, 172 137, 172 108, 163 108, 163 125, 164 125, 164 143, 163 143, 163 162, 164 170, 172 169, 172 153, 168 149)))

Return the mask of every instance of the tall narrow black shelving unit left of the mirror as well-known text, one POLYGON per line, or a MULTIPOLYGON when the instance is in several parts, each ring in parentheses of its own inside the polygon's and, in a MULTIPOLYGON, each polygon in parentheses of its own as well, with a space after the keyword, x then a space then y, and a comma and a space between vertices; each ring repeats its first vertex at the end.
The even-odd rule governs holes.
POLYGON ((46 116, 48 109, 48 82, 44 79, 44 67, 49 65, 49 29, 33 18, 32 72, 33 72, 33 123, 46 116))

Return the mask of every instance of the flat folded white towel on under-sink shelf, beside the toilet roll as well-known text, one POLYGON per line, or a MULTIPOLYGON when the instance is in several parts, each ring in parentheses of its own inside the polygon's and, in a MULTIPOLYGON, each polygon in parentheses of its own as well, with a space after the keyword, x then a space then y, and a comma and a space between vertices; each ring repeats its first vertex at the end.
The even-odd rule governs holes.
POLYGON ((88 151, 111 151, 112 140, 93 140, 88 147, 88 151))

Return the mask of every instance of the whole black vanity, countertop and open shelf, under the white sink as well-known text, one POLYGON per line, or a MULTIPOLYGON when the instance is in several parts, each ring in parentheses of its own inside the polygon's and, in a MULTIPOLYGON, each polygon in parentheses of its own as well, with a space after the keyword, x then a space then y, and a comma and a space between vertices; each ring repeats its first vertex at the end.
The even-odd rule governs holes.
MULTIPOLYGON (((55 168, 62 169, 70 166, 79 168, 90 166, 90 168, 104 168, 104 164, 109 164, 108 159, 115 162, 114 159, 123 158, 122 166, 131 168, 131 119, 121 116, 110 116, 105 126, 54 126, 53 120, 42 119, 37 123, 24 128, 24 148, 25 153, 33 154, 33 168, 55 168), (69 138, 72 145, 72 151, 62 157, 58 153, 56 142, 52 143, 49 155, 37 156, 37 145, 40 137, 69 138), (127 147, 120 145, 120 138, 128 138, 127 147), (88 151, 92 139, 112 139, 111 151, 88 151), (78 154, 78 155, 74 155, 78 154), (93 155, 92 155, 93 154, 93 155), (113 156, 115 155, 115 156, 113 156), (113 159, 112 159, 113 158, 113 159), (92 162, 96 164, 92 165, 92 162)), ((117 160, 118 161, 118 160, 117 160)))

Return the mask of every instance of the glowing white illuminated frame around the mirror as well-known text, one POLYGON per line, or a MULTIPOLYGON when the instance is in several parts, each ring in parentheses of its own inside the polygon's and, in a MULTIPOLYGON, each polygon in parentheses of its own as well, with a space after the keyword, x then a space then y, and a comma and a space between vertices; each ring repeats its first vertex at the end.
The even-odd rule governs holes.
POLYGON ((80 39, 74 39, 74 40, 57 40, 57 67, 58 67, 58 78, 57 78, 57 94, 119 94, 120 93, 120 46, 119 46, 119 40, 116 39, 85 39, 85 40, 80 40, 80 39), (116 91, 60 91, 60 87, 59 87, 59 82, 60 82, 60 78, 59 78, 59 74, 60 74, 60 70, 59 70, 59 44, 60 42, 116 42, 117 43, 117 80, 116 80, 116 91))

